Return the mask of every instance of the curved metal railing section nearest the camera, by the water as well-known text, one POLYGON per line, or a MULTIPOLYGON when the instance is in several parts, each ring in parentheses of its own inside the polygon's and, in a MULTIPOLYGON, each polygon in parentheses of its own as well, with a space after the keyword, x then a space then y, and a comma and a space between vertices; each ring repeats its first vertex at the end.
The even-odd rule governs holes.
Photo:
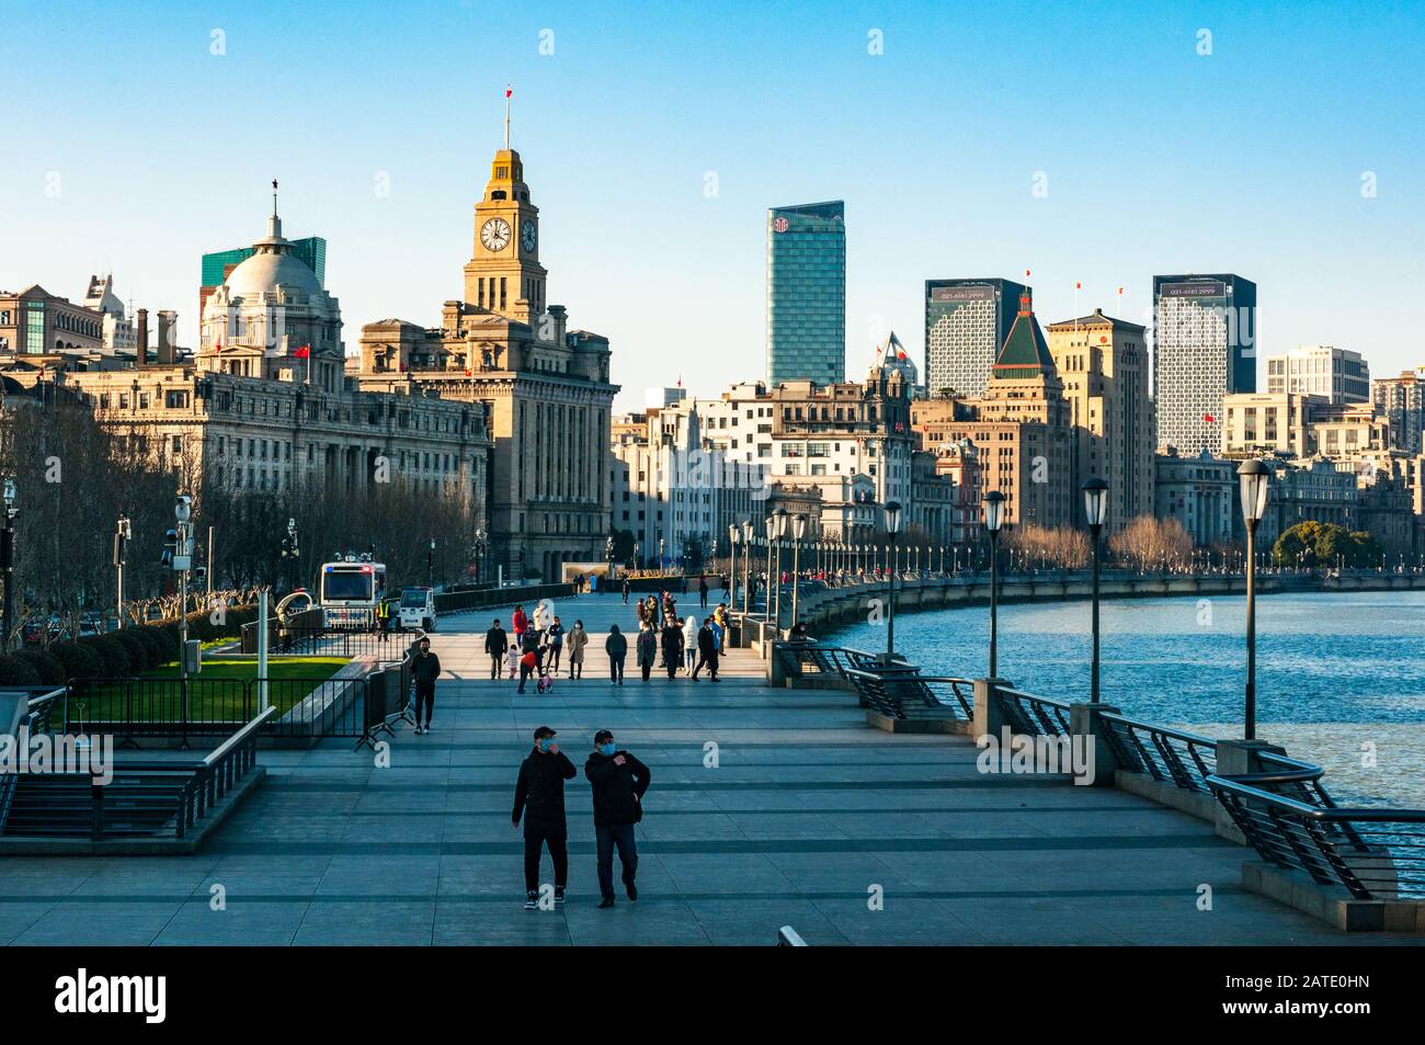
POLYGON ((1312 766, 1207 786, 1267 863, 1357 900, 1425 900, 1425 810, 1321 807, 1282 793, 1320 777, 1312 766))

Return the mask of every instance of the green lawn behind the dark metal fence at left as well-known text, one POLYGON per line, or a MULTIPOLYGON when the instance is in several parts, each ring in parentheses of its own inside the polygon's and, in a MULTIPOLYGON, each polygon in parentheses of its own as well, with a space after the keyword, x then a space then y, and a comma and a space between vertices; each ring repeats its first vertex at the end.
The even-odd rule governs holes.
MULTIPOLYGON (((268 663, 268 701, 285 714, 349 662, 345 657, 274 657, 268 663)), ((205 660, 188 680, 190 721, 247 721, 256 714, 256 660, 205 660)), ((182 717, 178 663, 164 664, 127 683, 77 690, 70 723, 177 721, 182 717)))

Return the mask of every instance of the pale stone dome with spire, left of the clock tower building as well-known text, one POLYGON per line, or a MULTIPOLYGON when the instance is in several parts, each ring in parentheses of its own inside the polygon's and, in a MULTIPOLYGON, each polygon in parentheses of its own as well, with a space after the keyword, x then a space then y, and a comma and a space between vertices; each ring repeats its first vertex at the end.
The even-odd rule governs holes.
POLYGON ((268 234, 202 308, 198 369, 341 389, 342 312, 282 237, 276 182, 268 234))

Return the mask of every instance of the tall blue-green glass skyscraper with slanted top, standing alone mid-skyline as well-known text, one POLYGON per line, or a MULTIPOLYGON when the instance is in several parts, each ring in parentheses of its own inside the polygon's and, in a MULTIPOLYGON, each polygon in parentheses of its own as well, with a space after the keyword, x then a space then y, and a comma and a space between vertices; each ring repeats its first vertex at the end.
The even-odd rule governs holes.
POLYGON ((767 382, 845 379, 845 204, 777 207, 767 212, 767 382))

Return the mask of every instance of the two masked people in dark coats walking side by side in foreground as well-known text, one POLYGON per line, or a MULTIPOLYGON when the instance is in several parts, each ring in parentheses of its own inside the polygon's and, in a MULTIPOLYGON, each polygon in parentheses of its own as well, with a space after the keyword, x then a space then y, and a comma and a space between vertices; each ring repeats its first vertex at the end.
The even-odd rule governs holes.
MULTIPOLYGON (((564 781, 577 776, 574 763, 559 750, 559 734, 549 726, 534 730, 534 748, 520 763, 514 784, 514 830, 524 821, 524 910, 539 907, 539 867, 544 850, 554 864, 554 904, 564 902, 569 887, 569 821, 564 815, 564 781)), ((594 841, 597 847, 600 908, 614 905, 614 850, 623 868, 624 892, 638 898, 636 875, 638 848, 634 824, 643 820, 643 796, 650 773, 614 734, 598 730, 594 750, 584 760, 584 776, 593 791, 594 841)))

